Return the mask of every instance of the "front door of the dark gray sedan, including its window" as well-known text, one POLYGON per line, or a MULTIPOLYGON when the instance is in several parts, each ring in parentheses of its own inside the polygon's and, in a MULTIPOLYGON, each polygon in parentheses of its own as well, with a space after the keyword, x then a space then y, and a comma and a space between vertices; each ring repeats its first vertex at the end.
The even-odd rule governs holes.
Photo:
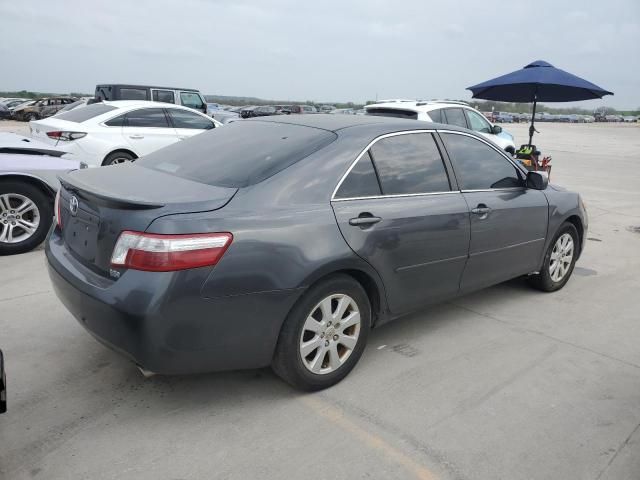
POLYGON ((545 194, 526 188, 524 173, 484 140, 462 132, 440 135, 470 209, 471 243, 461 290, 537 270, 549 218, 545 194))

